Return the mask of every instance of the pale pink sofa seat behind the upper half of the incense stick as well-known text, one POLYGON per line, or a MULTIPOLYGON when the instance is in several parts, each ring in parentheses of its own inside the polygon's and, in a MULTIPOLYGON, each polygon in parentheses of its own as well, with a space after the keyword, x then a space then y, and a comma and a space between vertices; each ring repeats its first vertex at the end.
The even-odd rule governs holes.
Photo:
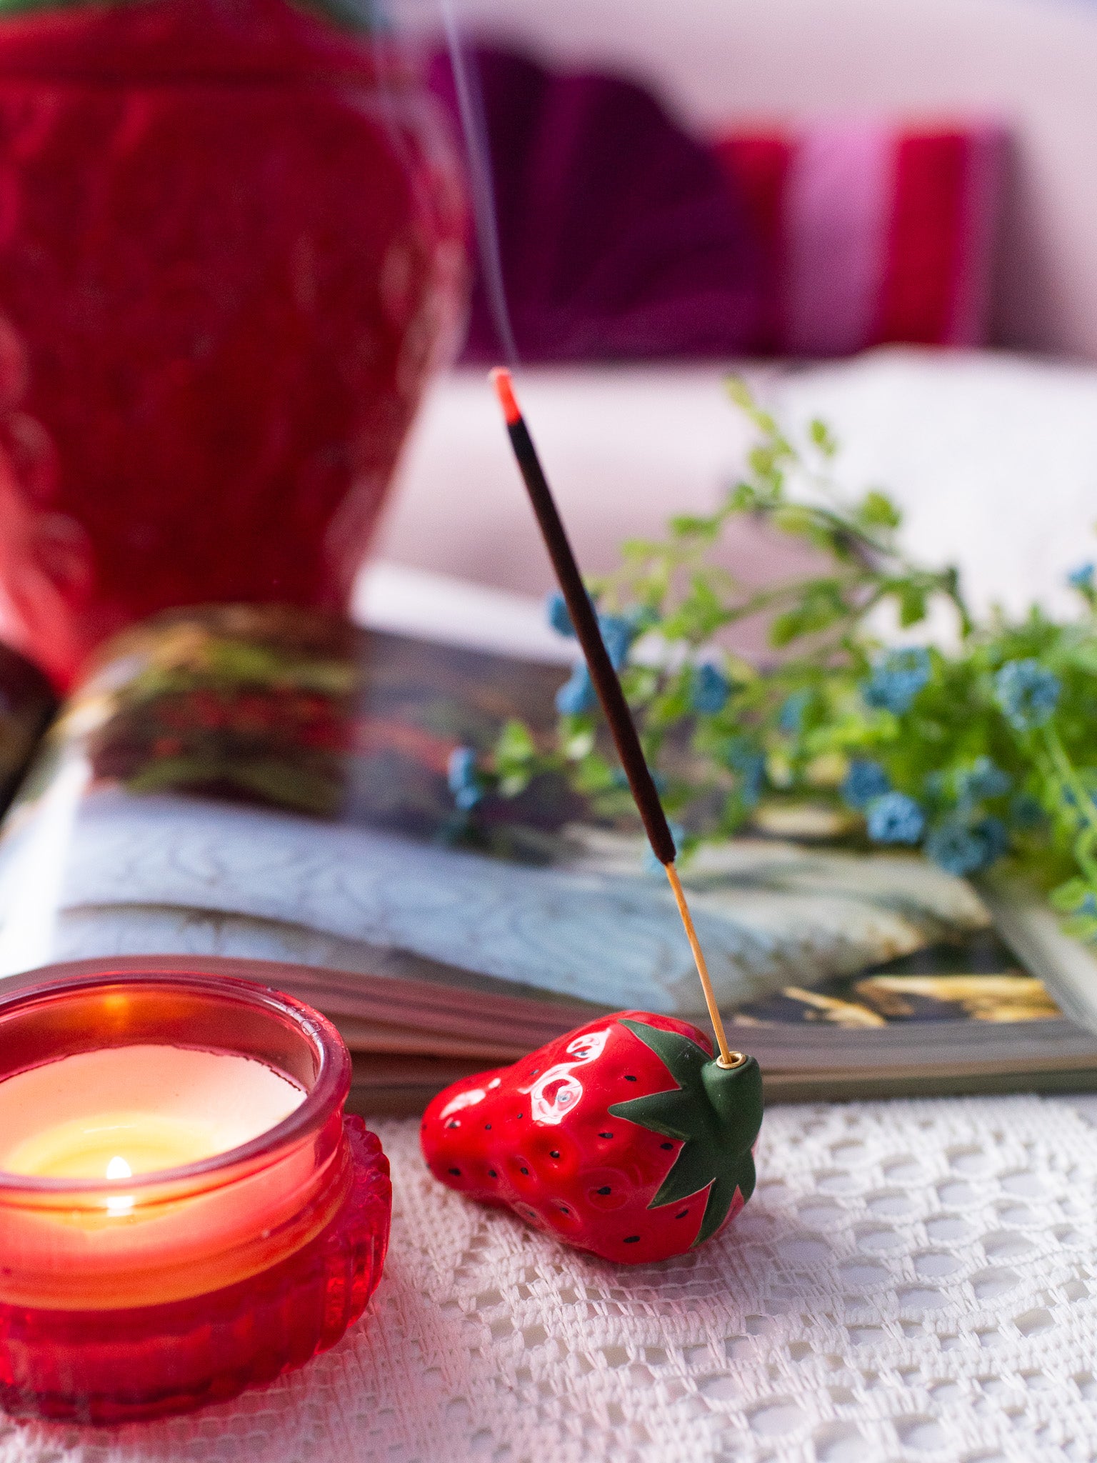
MULTIPOLYGON (((560 512, 588 573, 626 537, 705 509, 749 445, 727 367, 522 369, 516 385, 560 512)), ((408 439, 374 553, 518 594, 554 585, 483 370, 437 379, 408 439)))

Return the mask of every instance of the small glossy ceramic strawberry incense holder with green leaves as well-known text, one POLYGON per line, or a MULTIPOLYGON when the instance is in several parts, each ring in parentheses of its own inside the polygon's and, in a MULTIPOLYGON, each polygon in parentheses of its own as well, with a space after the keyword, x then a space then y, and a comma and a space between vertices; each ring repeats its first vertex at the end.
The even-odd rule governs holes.
POLYGON ((430 1103, 431 1173, 506 1204, 606 1260, 680 1255, 734 1219, 755 1188, 762 1075, 712 1056, 695 1026, 619 1011, 430 1103))

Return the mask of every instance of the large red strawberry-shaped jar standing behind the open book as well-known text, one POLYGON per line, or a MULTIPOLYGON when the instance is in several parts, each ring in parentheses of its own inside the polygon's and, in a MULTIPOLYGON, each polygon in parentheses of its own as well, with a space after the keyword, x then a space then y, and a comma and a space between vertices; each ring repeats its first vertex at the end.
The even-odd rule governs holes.
POLYGON ((167 606, 342 609, 464 234, 389 32, 290 0, 0 6, 6 638, 66 682, 167 606))

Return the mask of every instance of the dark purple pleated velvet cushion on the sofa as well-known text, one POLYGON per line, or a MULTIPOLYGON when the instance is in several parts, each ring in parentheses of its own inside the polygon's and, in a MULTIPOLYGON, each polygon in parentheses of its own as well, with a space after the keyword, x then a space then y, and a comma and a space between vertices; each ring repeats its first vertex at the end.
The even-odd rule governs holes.
MULTIPOLYGON (((714 154, 629 80, 477 48, 502 277, 524 361, 755 348, 761 246, 714 154)), ((431 85, 459 120, 449 59, 431 85)), ((465 358, 497 360, 478 279, 465 358)))

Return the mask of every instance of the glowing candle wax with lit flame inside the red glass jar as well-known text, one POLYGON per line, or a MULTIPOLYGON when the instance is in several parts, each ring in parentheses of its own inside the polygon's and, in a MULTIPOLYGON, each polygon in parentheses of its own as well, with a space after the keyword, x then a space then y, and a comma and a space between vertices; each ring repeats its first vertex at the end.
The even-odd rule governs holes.
MULTIPOLYGON (((246 1279, 319 1232, 345 1185, 310 1206, 309 1151, 246 1165, 187 1197, 158 1173, 227 1154, 304 1102, 291 1078, 235 1052, 108 1046, 0 1081, 0 1176, 18 1185, 98 1179, 0 1210, 0 1301, 47 1308, 146 1305, 246 1279), (136 1182, 135 1182, 136 1181, 136 1182)), ((231 1160, 230 1160, 231 1162, 231 1160)))

